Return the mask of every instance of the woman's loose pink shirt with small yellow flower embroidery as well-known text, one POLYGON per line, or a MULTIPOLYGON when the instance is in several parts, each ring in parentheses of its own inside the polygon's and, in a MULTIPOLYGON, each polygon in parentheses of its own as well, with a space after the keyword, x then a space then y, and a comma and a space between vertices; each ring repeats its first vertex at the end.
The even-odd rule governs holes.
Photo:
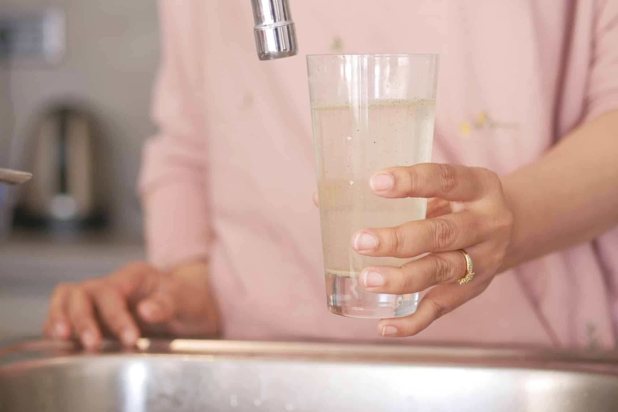
MULTIPOLYGON (((159 4, 148 250, 210 258, 227 338, 387 341, 326 309, 304 54, 441 54, 434 161, 498 174, 618 108, 616 0, 292 1, 302 55, 272 62, 248 2, 159 4)), ((614 229, 524 264, 397 342, 614 347, 617 251, 614 229)))

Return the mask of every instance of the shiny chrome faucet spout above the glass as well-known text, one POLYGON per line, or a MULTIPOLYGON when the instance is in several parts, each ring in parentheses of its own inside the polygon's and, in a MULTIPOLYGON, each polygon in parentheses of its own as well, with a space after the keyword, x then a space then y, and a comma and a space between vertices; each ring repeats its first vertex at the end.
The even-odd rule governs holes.
POLYGON ((296 30, 287 0, 251 0, 255 47, 260 60, 274 60, 298 53, 296 30))

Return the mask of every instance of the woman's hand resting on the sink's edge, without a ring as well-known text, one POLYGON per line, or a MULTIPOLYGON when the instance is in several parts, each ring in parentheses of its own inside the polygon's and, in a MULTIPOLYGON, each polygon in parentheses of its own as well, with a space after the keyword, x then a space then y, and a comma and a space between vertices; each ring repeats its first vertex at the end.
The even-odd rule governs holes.
POLYGON ((130 346, 142 334, 216 335, 219 312, 206 263, 161 272, 146 263, 78 283, 60 284, 51 295, 46 337, 79 338, 98 348, 103 334, 130 346))

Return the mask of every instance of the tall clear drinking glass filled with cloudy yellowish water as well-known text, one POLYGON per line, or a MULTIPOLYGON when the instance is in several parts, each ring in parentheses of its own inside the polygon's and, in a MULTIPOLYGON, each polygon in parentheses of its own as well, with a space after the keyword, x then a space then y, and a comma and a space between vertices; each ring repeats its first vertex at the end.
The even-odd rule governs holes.
POLYGON ((349 317, 407 316, 418 293, 370 293, 358 285, 364 267, 406 259, 362 256, 350 238, 425 219, 425 199, 380 198, 368 181, 385 167, 431 161, 438 56, 313 55, 307 66, 328 307, 349 317))

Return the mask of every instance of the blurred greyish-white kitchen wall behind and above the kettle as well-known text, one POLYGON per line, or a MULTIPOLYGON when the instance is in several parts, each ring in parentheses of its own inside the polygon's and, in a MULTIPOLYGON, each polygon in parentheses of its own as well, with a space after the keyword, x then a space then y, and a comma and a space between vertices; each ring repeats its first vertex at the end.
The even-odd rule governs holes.
MULTIPOLYGON (((135 179, 142 141, 154 132, 151 86, 158 63, 154 0, 0 0, 0 9, 58 6, 67 17, 67 54, 57 67, 10 70, 14 136, 21 145, 36 115, 61 99, 82 101, 105 139, 99 153, 109 170, 107 201, 113 227, 139 235, 135 179)), ((6 147, 2 141, 0 149, 6 147)), ((15 159, 12 159, 15 165, 15 159)))

